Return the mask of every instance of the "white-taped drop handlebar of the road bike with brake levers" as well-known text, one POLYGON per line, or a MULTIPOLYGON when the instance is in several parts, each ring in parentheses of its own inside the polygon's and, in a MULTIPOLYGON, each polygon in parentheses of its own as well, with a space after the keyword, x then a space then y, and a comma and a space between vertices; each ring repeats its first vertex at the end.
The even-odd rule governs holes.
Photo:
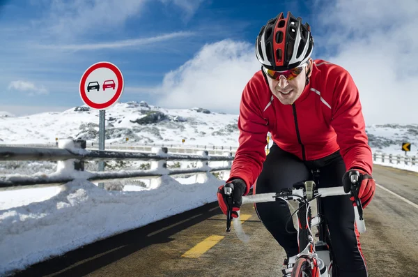
MULTIPOLYGON (((355 177, 353 177, 354 179, 355 177)), ((354 183, 354 182, 353 182, 354 183)), ((352 185, 352 190, 355 193, 351 193, 352 196, 355 197, 355 203, 356 206, 354 207, 354 214, 355 214, 355 221, 357 223, 357 230, 359 233, 366 232, 366 225, 364 224, 364 218, 363 218, 363 208, 362 203, 358 200, 357 197, 357 191, 355 191, 357 184, 352 185)), ((342 186, 340 187, 332 187, 332 188, 318 188, 314 190, 314 197, 328 197, 328 196, 336 196, 336 195, 348 195, 350 193, 345 193, 344 188, 342 186)), ((261 202, 274 202, 279 199, 282 200, 293 200, 293 197, 302 197, 306 199, 306 196, 304 195, 304 189, 303 188, 293 188, 293 189, 285 189, 282 190, 280 193, 261 193, 256 195, 247 195, 242 196, 242 204, 248 204, 248 203, 261 203, 261 202)), ((227 231, 228 225, 231 226, 231 218, 227 217, 227 231)), ((235 234, 239 239, 241 239, 244 242, 249 241, 249 237, 247 234, 245 234, 244 230, 242 230, 241 220, 240 220, 240 211, 238 211, 238 218, 232 219, 233 227, 235 230, 235 234)))

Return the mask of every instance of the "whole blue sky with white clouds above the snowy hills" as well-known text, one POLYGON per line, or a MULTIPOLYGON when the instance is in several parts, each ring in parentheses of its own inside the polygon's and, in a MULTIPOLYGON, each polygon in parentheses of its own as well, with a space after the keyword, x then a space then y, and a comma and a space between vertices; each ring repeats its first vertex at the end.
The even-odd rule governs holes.
MULTIPOLYGON (((417 39, 413 35, 400 38, 408 42, 408 49, 399 41, 384 43, 399 31, 387 24, 388 16, 402 13, 410 23, 403 31, 414 31, 417 24, 412 12, 417 4, 393 6, 389 0, 14 0, 0 1, 0 5, 0 110, 17 115, 83 105, 80 77, 98 61, 110 61, 121 69, 123 102, 146 100, 163 107, 199 106, 238 114, 240 93, 259 69, 254 54, 258 31, 270 18, 288 10, 311 25, 314 59, 339 63, 352 73, 369 107, 365 114, 371 123, 382 120, 373 115, 382 105, 389 109, 394 104, 394 99, 382 97, 377 104, 376 89, 387 98, 388 87, 401 89, 406 93, 402 97, 418 100, 409 90, 415 78, 401 75, 401 80, 405 78, 401 84, 393 78, 399 75, 397 66, 410 64, 417 39), (365 31, 365 26, 372 31, 365 31), (402 51, 394 57, 401 62, 387 57, 400 47, 402 51), (394 63, 389 66, 392 69, 370 76, 366 67, 378 66, 382 57, 394 63), (388 77, 393 84, 383 84, 388 77)), ((396 105, 405 109, 402 102, 396 105)), ((408 121, 392 113, 385 120, 408 121)))

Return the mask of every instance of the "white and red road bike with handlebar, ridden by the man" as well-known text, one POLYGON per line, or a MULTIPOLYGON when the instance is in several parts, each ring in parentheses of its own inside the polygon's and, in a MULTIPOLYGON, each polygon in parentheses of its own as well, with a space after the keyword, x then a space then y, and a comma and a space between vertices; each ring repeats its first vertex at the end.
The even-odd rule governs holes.
MULTIPOLYGON (((297 209, 297 218, 300 223, 300 227, 298 227, 298 244, 300 253, 296 255, 295 261, 300 257, 303 257, 312 264, 312 271, 315 275, 313 277, 320 276, 319 268, 318 268, 318 254, 316 253, 316 248, 314 244, 314 234, 311 232, 311 228, 318 225, 319 230, 319 240, 323 241, 325 244, 330 245, 330 241, 327 229, 325 228, 325 220, 323 218, 322 213, 322 204, 320 202, 321 197, 329 197, 329 196, 336 196, 336 195, 346 195, 350 193, 345 193, 343 187, 332 187, 332 188, 318 188, 315 189, 314 181, 305 181, 303 182, 302 186, 294 186, 293 189, 284 189, 281 193, 263 193, 258 195, 248 195, 242 197, 242 204, 247 203, 260 203, 260 202, 274 202, 274 201, 286 201, 288 200, 299 200, 299 209, 297 209), (311 218, 311 209, 310 204, 312 200, 317 200, 318 203, 318 214, 311 218)), ((357 202, 357 197, 355 197, 357 202)), ((357 230, 359 233, 366 232, 366 226, 364 225, 364 219, 362 218, 362 206, 355 206, 355 221, 357 223, 357 230)), ((295 213, 294 213, 295 214, 295 213)), ((290 217, 292 218, 292 216, 290 217)), ((244 242, 249 241, 249 237, 245 234, 244 230, 242 230, 241 220, 240 220, 240 213, 238 211, 238 218, 232 219, 233 229, 237 237, 244 242)), ((293 223, 293 221, 292 221, 293 223)), ((332 248, 332 247, 331 247, 332 248)), ((331 260, 331 257, 330 257, 331 260)), ((293 265, 295 261, 291 261, 293 265)), ((329 268, 333 266, 333 261, 331 260, 329 268)), ((330 269, 328 269, 330 272, 330 269)), ((330 274, 330 276, 332 276, 330 274)))

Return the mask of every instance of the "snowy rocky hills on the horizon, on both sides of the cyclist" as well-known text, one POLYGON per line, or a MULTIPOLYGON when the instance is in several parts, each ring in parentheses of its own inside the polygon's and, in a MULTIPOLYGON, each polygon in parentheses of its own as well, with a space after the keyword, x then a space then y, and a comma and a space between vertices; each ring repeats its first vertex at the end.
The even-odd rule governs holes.
MULTIPOLYGON (((211 112, 201 107, 169 110, 144 101, 117 103, 106 112, 107 143, 238 146, 238 114, 211 112), (126 137, 129 139, 126 141, 126 137)), ((3 144, 54 143, 55 138, 82 138, 98 142, 99 112, 85 105, 65 112, 45 112, 26 117, 0 112, 3 144)), ((403 142, 418 153, 418 124, 367 126, 373 151, 403 154, 403 142)))

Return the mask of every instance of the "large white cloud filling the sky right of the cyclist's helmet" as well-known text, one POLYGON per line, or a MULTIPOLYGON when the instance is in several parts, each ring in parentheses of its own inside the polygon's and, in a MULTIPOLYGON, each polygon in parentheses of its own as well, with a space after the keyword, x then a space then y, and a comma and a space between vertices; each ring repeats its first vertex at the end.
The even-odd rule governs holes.
POLYGON ((417 1, 338 0, 318 15, 331 30, 316 44, 337 47, 324 58, 353 76, 368 124, 417 122, 417 13, 417 1))

